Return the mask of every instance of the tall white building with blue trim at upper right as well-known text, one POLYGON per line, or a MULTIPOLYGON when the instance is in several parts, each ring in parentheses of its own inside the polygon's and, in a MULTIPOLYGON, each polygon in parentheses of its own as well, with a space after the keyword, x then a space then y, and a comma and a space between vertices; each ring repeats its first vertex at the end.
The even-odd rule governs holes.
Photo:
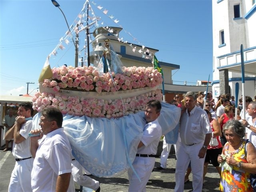
POLYGON ((215 97, 242 95, 240 46, 244 48, 245 95, 256 95, 256 1, 212 0, 213 82, 215 97))

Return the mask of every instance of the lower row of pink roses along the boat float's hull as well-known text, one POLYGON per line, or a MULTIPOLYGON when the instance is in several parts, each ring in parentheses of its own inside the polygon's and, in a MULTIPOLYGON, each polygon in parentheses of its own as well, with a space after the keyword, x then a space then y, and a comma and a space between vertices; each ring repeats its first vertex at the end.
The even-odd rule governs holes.
POLYGON ((60 93, 48 94, 37 92, 32 98, 33 109, 38 112, 46 106, 59 108, 63 114, 75 116, 117 118, 145 110, 150 100, 162 100, 160 89, 153 90, 140 96, 125 99, 104 100, 96 98, 85 99, 78 96, 63 96, 60 93))

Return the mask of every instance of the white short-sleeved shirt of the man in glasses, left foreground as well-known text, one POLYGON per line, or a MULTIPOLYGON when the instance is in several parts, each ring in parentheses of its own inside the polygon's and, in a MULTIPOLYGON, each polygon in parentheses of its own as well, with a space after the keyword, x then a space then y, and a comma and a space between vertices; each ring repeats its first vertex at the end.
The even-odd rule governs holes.
POLYGON ((31 172, 32 190, 53 192, 58 175, 71 172, 71 146, 64 128, 58 128, 40 141, 31 172))

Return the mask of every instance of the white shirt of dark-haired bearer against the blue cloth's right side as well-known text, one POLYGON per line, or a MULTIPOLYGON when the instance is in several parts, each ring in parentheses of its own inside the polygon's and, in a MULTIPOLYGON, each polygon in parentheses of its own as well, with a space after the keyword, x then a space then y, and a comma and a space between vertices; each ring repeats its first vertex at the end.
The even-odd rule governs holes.
POLYGON ((143 129, 141 142, 144 146, 138 148, 137 154, 153 154, 157 152, 158 142, 162 136, 162 128, 158 120, 147 123, 143 129))

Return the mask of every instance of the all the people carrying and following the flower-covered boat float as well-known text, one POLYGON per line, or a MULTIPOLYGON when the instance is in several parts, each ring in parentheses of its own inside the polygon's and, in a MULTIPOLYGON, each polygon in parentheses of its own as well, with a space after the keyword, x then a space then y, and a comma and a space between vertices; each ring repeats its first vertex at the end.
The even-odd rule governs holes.
MULTIPOLYGON (((223 94, 215 104, 211 92, 186 92, 182 100, 176 94, 170 101, 181 110, 177 142, 168 144, 164 138, 158 169, 166 169, 173 144, 177 158, 175 192, 184 190, 190 172, 193 191, 201 192, 208 164, 212 164, 220 175, 220 191, 253 191, 248 179, 250 174, 256 174, 256 101, 246 96, 246 108, 236 119, 233 101, 230 94, 223 94), (213 140, 216 140, 215 144, 213 140)), ((158 123, 160 113, 161 102, 148 102, 143 136, 128 170, 129 192, 146 191, 162 136, 158 123)), ((75 181, 100 192, 99 182, 82 174, 82 166, 72 156, 60 110, 52 107, 42 110, 40 129, 35 130, 32 129, 32 114, 32 104, 24 102, 19 105, 14 122, 9 122, 12 110, 4 120, 4 139, 14 141, 12 153, 16 160, 8 190, 75 191, 75 181)))

